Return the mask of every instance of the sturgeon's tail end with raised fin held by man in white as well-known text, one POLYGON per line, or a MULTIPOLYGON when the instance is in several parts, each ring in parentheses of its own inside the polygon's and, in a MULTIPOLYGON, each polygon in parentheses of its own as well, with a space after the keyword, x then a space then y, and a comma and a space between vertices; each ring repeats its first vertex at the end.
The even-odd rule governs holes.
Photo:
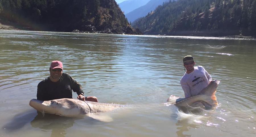
POLYGON ((219 83, 219 80, 214 80, 207 87, 205 87, 198 95, 189 97, 187 99, 183 99, 179 102, 176 102, 176 100, 179 99, 179 97, 171 95, 167 99, 167 103, 165 104, 174 104, 178 108, 186 108, 188 106, 192 106, 201 107, 204 109, 211 109, 218 105, 215 93, 219 83))

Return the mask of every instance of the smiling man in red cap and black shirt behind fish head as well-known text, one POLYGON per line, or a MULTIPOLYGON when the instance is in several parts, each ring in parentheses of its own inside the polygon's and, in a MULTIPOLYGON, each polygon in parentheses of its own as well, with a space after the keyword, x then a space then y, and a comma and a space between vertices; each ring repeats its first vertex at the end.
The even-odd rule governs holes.
POLYGON ((77 99, 98 102, 96 97, 84 97, 82 86, 69 74, 63 72, 63 65, 60 61, 52 61, 49 71, 50 76, 41 81, 37 86, 38 100, 73 98, 73 90, 77 92, 77 99))

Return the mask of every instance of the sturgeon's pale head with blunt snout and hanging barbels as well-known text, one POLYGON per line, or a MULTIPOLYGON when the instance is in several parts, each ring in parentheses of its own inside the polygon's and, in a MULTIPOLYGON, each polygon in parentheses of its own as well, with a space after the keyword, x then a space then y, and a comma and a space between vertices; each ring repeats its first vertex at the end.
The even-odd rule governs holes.
POLYGON ((32 99, 29 105, 39 112, 55 114, 65 117, 82 117, 90 113, 89 106, 78 99, 54 99, 41 101, 32 99))

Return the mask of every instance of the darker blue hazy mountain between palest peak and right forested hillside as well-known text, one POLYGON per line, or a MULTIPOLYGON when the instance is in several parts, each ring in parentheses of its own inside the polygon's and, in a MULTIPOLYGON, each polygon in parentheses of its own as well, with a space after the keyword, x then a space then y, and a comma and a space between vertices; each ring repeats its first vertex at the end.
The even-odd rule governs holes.
POLYGON ((162 5, 166 1, 169 0, 150 0, 146 5, 136 8, 135 10, 125 14, 125 16, 129 22, 133 22, 137 18, 146 16, 148 12, 153 11, 158 5, 162 5))

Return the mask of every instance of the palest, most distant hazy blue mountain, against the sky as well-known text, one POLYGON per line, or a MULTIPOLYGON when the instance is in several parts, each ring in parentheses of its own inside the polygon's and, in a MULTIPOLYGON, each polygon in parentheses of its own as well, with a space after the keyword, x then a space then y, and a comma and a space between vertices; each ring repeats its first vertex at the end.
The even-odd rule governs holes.
POLYGON ((145 5, 146 3, 148 3, 148 1, 150 0, 128 0, 128 1, 123 1, 121 3, 119 3, 119 7, 121 8, 121 10, 124 12, 124 14, 127 14, 133 10, 135 10, 136 8, 139 8, 143 5, 145 5))

